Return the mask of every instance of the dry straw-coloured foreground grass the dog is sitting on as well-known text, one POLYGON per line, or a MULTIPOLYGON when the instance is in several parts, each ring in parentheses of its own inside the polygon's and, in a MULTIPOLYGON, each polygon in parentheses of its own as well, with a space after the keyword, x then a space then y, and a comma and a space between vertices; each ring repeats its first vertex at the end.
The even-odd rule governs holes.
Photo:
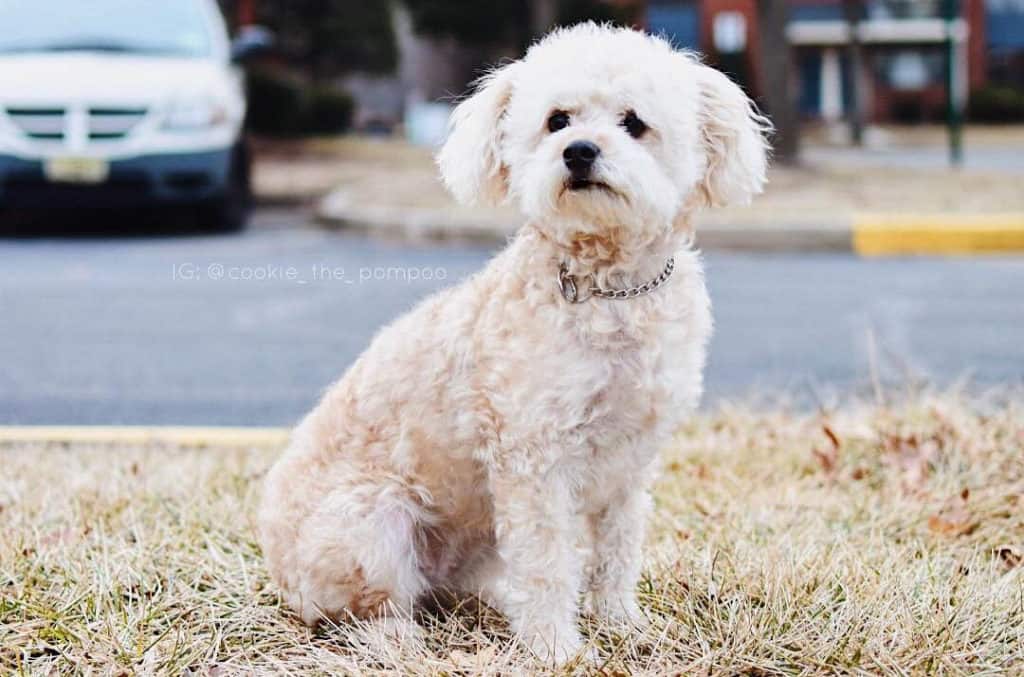
MULTIPOLYGON (((0 673, 534 674, 464 604, 311 633, 260 564, 271 450, 0 449, 0 673)), ((1024 408, 726 408, 667 452, 652 624, 608 674, 1024 673, 1024 408), (985 413, 979 413, 984 411, 985 413)))

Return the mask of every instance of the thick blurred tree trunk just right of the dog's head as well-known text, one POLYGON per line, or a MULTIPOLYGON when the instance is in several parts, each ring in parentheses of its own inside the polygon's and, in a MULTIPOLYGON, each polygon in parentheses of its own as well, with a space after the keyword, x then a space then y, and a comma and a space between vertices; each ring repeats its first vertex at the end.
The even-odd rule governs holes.
POLYGON ((800 115, 794 92, 793 54, 785 29, 788 22, 786 0, 758 0, 758 24, 761 28, 762 104, 775 125, 773 157, 782 164, 795 164, 800 155, 800 115))

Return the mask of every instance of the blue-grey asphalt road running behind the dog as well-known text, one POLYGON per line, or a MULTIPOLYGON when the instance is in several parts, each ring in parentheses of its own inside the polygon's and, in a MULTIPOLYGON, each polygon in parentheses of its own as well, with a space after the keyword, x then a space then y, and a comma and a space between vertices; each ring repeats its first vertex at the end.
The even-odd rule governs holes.
MULTIPOLYGON (((487 248, 317 230, 0 239, 0 424, 287 425, 487 248)), ((125 225, 131 229, 131 225, 125 225)), ((1024 381, 1024 258, 711 253, 708 397, 1024 381)))

